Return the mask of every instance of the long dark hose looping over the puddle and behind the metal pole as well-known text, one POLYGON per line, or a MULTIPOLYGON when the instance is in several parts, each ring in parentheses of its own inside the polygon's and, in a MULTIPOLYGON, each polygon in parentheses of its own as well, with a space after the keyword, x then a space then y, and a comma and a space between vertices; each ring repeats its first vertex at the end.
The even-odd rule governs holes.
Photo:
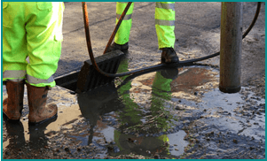
MULTIPOLYGON (((84 4, 82 4, 82 6, 84 4)), ((129 9, 129 7, 128 8, 125 8, 124 12, 126 13, 128 11, 128 9, 129 9)), ((257 3, 257 9, 256 9, 256 12, 255 12, 255 17, 252 20, 250 26, 247 28, 246 32, 242 35, 242 39, 244 39, 246 37, 246 35, 250 32, 250 30, 252 29, 252 27, 254 27, 255 21, 258 18, 258 15, 259 15, 260 10, 261 10, 261 2, 258 2, 257 3)), ((86 32, 86 35, 89 35, 89 25, 88 24, 86 25, 85 17, 87 17, 87 15, 85 15, 85 13, 87 14, 87 12, 84 12, 84 9, 83 9, 84 25, 85 25, 85 27, 88 27, 88 29, 85 28, 85 32, 86 32), (87 32, 88 32, 88 34, 87 34, 87 32)), ((88 20, 87 20, 87 23, 88 23, 88 20)), ((87 41, 90 42, 90 36, 86 36, 86 38, 87 38, 87 41)), ((190 59, 190 60, 180 61, 179 63, 174 63, 174 64, 158 64, 158 65, 152 65, 152 66, 147 66, 147 67, 136 69, 136 70, 133 70, 133 71, 130 71, 130 72, 126 72, 126 73, 105 73, 104 71, 102 71, 101 69, 99 69, 99 67, 98 67, 98 65, 97 65, 97 63, 95 61, 95 58, 93 57, 91 46, 89 46, 89 45, 88 45, 88 50, 89 50, 89 54, 90 54, 90 60, 91 60, 91 62, 93 64, 94 68, 98 71, 98 73, 101 73, 101 74, 105 75, 106 77, 113 77, 113 78, 114 77, 122 77, 122 76, 130 75, 130 74, 145 73, 146 71, 156 70, 156 69, 159 69, 161 67, 189 65, 189 64, 192 64, 194 62, 202 61, 202 60, 205 60, 205 59, 208 59, 208 58, 214 58, 214 57, 220 55, 220 51, 218 51, 218 52, 216 52, 214 54, 211 54, 211 55, 208 55, 206 57, 194 58, 194 59, 190 59)))

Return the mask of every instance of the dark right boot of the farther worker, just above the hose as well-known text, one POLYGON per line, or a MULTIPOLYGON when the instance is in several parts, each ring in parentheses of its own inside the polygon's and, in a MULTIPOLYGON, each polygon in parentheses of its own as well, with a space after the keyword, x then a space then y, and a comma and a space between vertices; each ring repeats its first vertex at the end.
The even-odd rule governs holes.
POLYGON ((161 63, 179 63, 179 58, 173 48, 163 48, 161 50, 161 63))

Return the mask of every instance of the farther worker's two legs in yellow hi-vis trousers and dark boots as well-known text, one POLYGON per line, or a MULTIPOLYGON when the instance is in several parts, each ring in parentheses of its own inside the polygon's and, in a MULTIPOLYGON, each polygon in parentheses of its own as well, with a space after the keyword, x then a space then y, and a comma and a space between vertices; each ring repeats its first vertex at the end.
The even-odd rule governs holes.
MULTIPOLYGON (((156 2, 155 3, 155 27, 158 36, 159 49, 162 50, 162 63, 178 63, 179 58, 174 50, 176 40, 175 29, 175 3, 174 2, 156 2)), ((116 4, 116 23, 120 19, 127 2, 117 2, 116 4)), ((122 24, 119 27, 117 34, 114 37, 114 43, 110 46, 107 52, 112 50, 122 50, 123 52, 129 49, 129 37, 131 28, 131 14, 133 12, 134 3, 130 5, 122 24)))

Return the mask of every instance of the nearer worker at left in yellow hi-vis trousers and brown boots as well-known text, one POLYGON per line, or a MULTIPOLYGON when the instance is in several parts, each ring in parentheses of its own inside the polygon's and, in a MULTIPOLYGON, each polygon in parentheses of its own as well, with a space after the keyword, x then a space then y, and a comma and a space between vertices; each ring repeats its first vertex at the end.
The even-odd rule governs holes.
POLYGON ((57 115, 57 105, 46 105, 46 100, 56 85, 52 74, 61 54, 63 11, 63 2, 3 2, 3 83, 8 95, 3 111, 8 119, 20 120, 25 84, 29 123, 57 115))

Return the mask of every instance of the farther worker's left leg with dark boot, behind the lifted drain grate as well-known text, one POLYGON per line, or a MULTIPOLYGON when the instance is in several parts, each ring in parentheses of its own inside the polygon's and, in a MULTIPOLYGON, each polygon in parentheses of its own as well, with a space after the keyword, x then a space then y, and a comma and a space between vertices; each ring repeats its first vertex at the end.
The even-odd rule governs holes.
MULTIPOLYGON (((127 6, 127 2, 117 2, 116 4, 116 24, 118 23, 122 12, 124 11, 125 7, 127 6)), ((131 15, 133 12, 134 3, 130 5, 128 12, 124 16, 122 20, 122 24, 119 27, 117 34, 114 37, 114 43, 107 49, 107 52, 113 50, 121 50, 122 52, 127 52, 129 49, 129 37, 130 37, 130 27, 131 27, 131 15)))

